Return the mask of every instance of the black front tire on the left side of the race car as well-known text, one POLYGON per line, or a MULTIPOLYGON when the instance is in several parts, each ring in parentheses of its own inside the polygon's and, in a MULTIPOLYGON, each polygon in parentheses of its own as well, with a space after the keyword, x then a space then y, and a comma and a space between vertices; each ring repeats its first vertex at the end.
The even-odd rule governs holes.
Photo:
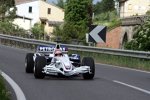
POLYGON ((43 79, 45 74, 42 72, 46 65, 46 58, 44 56, 38 56, 35 60, 34 77, 37 79, 43 79))

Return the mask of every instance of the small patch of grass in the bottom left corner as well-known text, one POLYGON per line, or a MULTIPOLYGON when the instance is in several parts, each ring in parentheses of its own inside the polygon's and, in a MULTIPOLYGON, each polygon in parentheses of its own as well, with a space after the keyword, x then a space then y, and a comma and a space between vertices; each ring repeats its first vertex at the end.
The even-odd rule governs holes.
POLYGON ((10 93, 8 92, 3 77, 0 75, 0 100, 10 100, 10 93))

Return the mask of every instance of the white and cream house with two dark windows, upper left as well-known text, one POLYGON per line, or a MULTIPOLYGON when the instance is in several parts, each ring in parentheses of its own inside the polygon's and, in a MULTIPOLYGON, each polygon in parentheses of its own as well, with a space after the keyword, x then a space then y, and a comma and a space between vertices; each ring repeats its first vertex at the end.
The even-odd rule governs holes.
POLYGON ((35 23, 41 23, 49 35, 56 25, 63 23, 64 11, 45 0, 16 0, 17 17, 14 23, 28 30, 35 23))

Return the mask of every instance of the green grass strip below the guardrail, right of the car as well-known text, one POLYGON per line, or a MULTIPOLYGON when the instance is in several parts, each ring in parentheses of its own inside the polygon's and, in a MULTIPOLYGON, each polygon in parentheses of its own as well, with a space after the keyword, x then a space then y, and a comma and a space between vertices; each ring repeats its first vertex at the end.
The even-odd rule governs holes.
POLYGON ((138 59, 132 57, 115 56, 109 54, 91 53, 82 51, 70 51, 69 53, 78 53, 81 55, 81 58, 83 58, 84 56, 93 57, 96 63, 110 64, 150 71, 150 60, 146 59, 138 59))

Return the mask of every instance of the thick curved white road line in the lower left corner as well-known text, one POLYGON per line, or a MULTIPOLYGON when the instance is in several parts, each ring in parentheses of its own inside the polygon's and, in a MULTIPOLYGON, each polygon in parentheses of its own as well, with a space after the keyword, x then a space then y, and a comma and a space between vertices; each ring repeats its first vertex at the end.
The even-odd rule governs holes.
POLYGON ((26 100, 24 93, 22 92, 21 88, 13 81, 7 74, 0 71, 0 74, 4 77, 4 79, 11 85, 13 90, 15 91, 17 100, 26 100))

